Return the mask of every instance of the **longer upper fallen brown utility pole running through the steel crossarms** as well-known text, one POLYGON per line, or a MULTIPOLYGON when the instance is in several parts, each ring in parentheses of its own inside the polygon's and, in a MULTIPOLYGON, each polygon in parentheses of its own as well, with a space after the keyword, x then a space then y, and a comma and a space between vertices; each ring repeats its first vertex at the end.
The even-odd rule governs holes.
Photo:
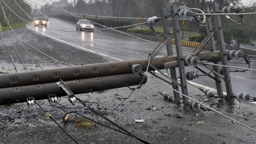
MULTIPOLYGON (((226 52, 229 53, 230 50, 226 50, 226 52)), ((183 56, 184 58, 186 58, 190 55, 195 56, 196 53, 184 54, 183 56)), ((221 61, 219 51, 201 52, 198 54, 197 57, 200 60, 206 60, 210 62, 221 61)), ((230 59, 231 58, 229 58, 229 60, 230 59)), ((177 55, 153 58, 150 63, 157 69, 166 69, 165 64, 170 61, 177 61, 177 55)), ((115 61, 100 64, 88 64, 83 66, 62 67, 56 69, 44 69, 29 72, 4 74, 0 75, 0 88, 52 83, 58 82, 60 79, 63 81, 68 81, 110 75, 128 74, 133 73, 131 64, 140 64, 142 67, 142 71, 146 71, 147 63, 148 58, 142 58, 128 61, 115 61)), ((187 64, 185 63, 185 65, 187 64)), ((149 67, 148 70, 151 71, 154 69, 149 67)))

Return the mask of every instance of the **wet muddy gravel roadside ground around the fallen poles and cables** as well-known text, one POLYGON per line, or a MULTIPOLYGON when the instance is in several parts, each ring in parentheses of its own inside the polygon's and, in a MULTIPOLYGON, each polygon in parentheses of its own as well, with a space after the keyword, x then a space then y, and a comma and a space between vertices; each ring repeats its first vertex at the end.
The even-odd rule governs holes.
MULTIPOLYGON (((15 32, 18 36, 23 37, 24 41, 29 42, 30 45, 36 46, 36 48, 43 53, 58 58, 60 61, 65 61, 74 65, 106 62, 97 55, 56 42, 45 36, 32 33, 25 28, 15 30, 15 32), (31 39, 33 39, 33 41, 31 39)), ((7 37, 7 32, 5 34, 7 37)), ((15 40, 14 43, 16 44, 16 47, 20 47, 15 40)), ((10 56, 8 56, 7 49, 2 42, 0 45, 1 73, 15 72, 12 63, 9 60, 10 56)), ((7 43, 7 48, 13 52, 11 42, 7 43)), ((66 66, 41 56, 41 54, 38 54, 32 50, 32 48, 28 48, 28 50, 35 56, 39 64, 42 64, 44 69, 66 66)), ((39 69, 38 67, 34 67, 35 64, 30 60, 31 58, 29 56, 26 56, 25 53, 23 53, 23 55, 25 55, 26 61, 28 61, 26 66, 29 67, 30 70, 39 69)), ((15 58, 17 58, 17 56, 14 56, 14 59, 15 58)), ((19 64, 19 67, 21 66, 22 65, 19 64)), ((23 69, 20 71, 25 70, 23 69)), ((170 96, 173 95, 169 88, 161 86, 149 78, 147 84, 158 91, 166 91, 170 96)), ((197 100, 200 99, 201 101, 206 99, 206 96, 203 96, 201 91, 191 85, 188 85, 188 91, 189 96, 192 98, 197 100)), ((134 93, 132 93, 132 90, 129 88, 118 88, 94 92, 93 94, 79 94, 77 97, 103 115, 107 115, 118 106, 116 110, 107 116, 107 118, 149 143, 233 144, 255 143, 256 141, 256 132, 241 126, 238 123, 234 124, 232 120, 213 111, 184 110, 183 107, 178 107, 173 102, 168 102, 157 91, 152 90, 146 85, 143 85, 134 93), (129 96, 130 94, 131 96, 129 96), (129 98, 126 99, 128 96, 129 98), (123 103, 121 104, 121 102, 123 103), (135 119, 143 119, 144 121, 136 122, 135 119)), ((117 132, 105 126, 96 126, 93 129, 86 131, 86 128, 76 124, 75 120, 83 117, 75 113, 71 113, 68 121, 63 122, 63 116, 71 111, 80 113, 95 121, 101 119, 100 116, 96 115, 79 102, 72 105, 68 102, 66 97, 61 97, 59 103, 64 107, 58 104, 53 104, 63 108, 66 112, 51 106, 48 100, 38 100, 38 103, 53 116, 54 120, 56 120, 56 122, 63 127, 71 137, 78 136, 75 138, 77 143, 142 143, 131 136, 122 134, 121 132, 117 132)), ((209 105, 208 102, 205 102, 204 104, 209 105)), ((233 106, 227 105, 226 103, 218 103, 213 105, 212 108, 225 113, 234 115, 243 114, 246 117, 255 118, 255 106, 254 103, 246 104, 244 102, 239 104, 236 103, 233 106), (239 106, 239 108, 237 108, 237 106, 239 106)), ((253 129, 256 127, 254 120, 236 116, 230 117, 253 129)), ((120 130, 106 120, 102 120, 101 123, 120 130)), ((71 138, 57 124, 55 124, 53 120, 48 118, 39 106, 28 106, 26 103, 1 106, 0 131, 0 144, 75 143, 74 141, 69 142, 71 138)))

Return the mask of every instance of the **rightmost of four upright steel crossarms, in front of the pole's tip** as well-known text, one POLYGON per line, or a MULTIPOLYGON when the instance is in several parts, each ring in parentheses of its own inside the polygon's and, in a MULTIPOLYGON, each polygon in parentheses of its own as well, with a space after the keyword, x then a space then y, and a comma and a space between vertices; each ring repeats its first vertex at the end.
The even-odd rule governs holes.
MULTIPOLYGON (((214 13, 219 12, 218 4, 215 4, 215 9, 213 10, 213 12, 214 13)), ((219 51, 220 51, 221 62, 222 62, 222 65, 227 65, 227 55, 224 55, 226 48, 225 48, 225 42, 224 42, 224 37, 223 37, 220 15, 214 15, 214 21, 215 21, 215 26, 216 26, 218 44, 220 45, 219 51)), ((230 79, 228 67, 223 67, 223 75, 224 75, 225 86, 226 86, 226 91, 227 91, 227 103, 229 105, 235 105, 234 94, 233 94, 233 90, 232 90, 231 79, 230 79)))

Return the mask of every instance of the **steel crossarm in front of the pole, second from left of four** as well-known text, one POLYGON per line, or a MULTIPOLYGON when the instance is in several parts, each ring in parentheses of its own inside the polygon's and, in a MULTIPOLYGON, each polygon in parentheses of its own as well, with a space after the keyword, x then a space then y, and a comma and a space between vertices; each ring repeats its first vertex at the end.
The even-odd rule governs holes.
MULTIPOLYGON (((178 21, 176 5, 171 6, 171 12, 172 12, 172 19, 173 19, 173 33, 174 33, 174 36, 175 36, 175 45, 176 45, 176 51, 177 51, 179 74, 180 74, 180 77, 181 77, 180 78, 180 80, 181 80, 181 91, 182 91, 182 94, 188 96, 186 72, 185 72, 185 66, 184 66, 184 59, 183 59, 183 52, 182 52, 182 45, 181 45, 181 37, 180 37, 180 28, 179 28, 179 21, 178 21)), ((190 109, 189 99, 185 96, 182 96, 182 99, 183 99, 184 108, 185 109, 190 109)))

